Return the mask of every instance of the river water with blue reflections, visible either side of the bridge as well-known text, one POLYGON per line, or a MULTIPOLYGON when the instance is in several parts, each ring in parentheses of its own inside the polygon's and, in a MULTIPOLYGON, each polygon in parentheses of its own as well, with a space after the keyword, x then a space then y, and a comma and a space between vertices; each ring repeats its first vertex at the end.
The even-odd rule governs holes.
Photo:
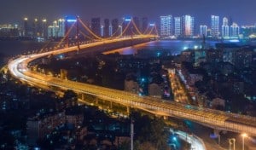
MULTIPOLYGON (((120 55, 136 54, 139 49, 165 49, 170 50, 172 55, 178 55, 184 49, 199 49, 201 40, 166 40, 154 41, 149 43, 138 44, 136 46, 124 49, 114 49, 105 54, 119 52, 120 55)), ((216 41, 207 41, 207 48, 214 48, 216 41)), ((3 55, 20 55, 27 51, 38 50, 43 48, 54 47, 55 42, 36 42, 36 41, 0 41, 0 54, 3 55)))

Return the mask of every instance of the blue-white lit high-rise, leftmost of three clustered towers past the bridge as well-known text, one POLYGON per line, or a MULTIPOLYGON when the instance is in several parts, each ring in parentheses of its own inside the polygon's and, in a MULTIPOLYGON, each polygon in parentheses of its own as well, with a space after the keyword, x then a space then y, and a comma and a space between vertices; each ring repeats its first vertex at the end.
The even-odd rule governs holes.
POLYGON ((160 36, 162 38, 172 36, 172 15, 160 16, 160 36))

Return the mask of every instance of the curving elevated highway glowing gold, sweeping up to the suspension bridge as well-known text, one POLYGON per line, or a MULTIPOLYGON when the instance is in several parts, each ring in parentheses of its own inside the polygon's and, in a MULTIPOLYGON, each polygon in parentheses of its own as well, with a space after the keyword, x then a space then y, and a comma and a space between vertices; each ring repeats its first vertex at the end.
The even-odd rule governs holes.
MULTIPOLYGON (((154 38, 149 36, 137 36, 133 39, 154 38)), ((131 38, 109 39, 101 42, 87 43, 80 45, 81 49, 93 48, 104 43, 118 43, 131 38)), ((164 101, 161 99, 140 96, 136 94, 127 93, 125 91, 103 88, 91 84, 82 84, 61 78, 55 78, 49 75, 44 75, 39 72, 32 72, 27 68, 29 62, 35 59, 47 56, 58 55, 77 50, 77 47, 70 47, 66 49, 58 49, 41 54, 33 54, 20 56, 13 61, 9 61, 9 71, 11 74, 22 81, 29 84, 34 84, 46 89, 45 87, 58 87, 60 89, 72 89, 78 94, 96 95, 104 100, 113 101, 122 104, 126 107, 134 107, 154 113, 155 115, 176 117, 189 119, 200 124, 204 124, 218 130, 229 130, 238 133, 247 133, 251 136, 256 136, 256 118, 248 117, 236 113, 224 113, 222 111, 194 107, 186 104, 181 104, 173 101, 164 101)), ((86 49, 85 49, 86 50, 86 49)), ((49 89, 47 88, 47 89, 49 89)))

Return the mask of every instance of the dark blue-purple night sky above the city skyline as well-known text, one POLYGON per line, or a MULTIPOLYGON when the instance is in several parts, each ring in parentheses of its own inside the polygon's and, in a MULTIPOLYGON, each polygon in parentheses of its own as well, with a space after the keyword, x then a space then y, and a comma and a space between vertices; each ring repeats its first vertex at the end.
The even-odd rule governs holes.
POLYGON ((209 25, 210 15, 216 14, 240 25, 254 25, 255 7, 256 0, 2 0, 0 24, 19 23, 24 17, 51 22, 67 14, 78 14, 82 20, 147 16, 155 22, 160 15, 191 14, 198 24, 209 25))

